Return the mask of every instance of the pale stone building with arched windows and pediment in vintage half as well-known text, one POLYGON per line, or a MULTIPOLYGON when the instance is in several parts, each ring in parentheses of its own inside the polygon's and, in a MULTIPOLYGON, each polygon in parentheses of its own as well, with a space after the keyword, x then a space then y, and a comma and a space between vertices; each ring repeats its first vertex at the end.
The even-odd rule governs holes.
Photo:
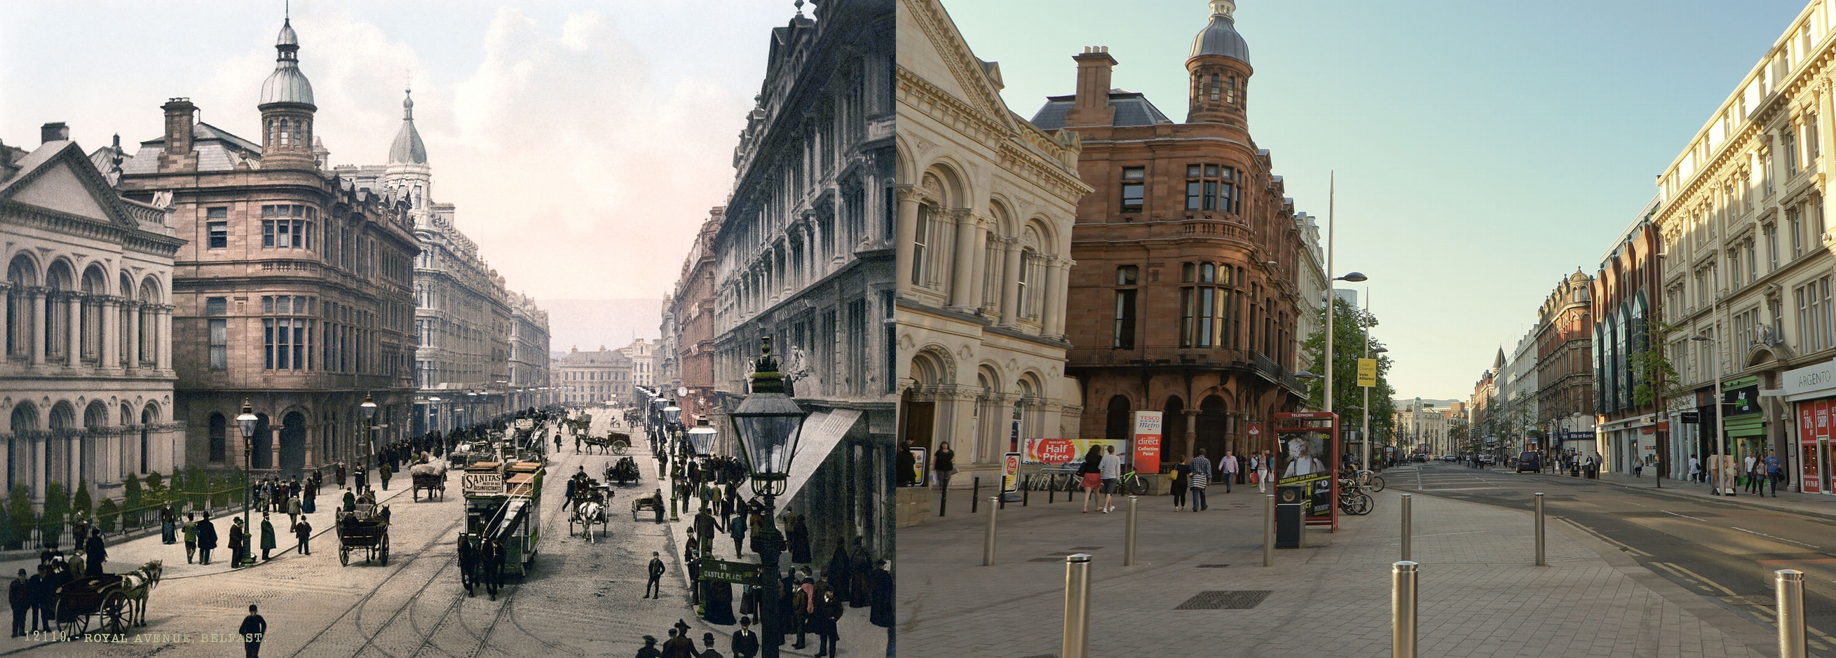
MULTIPOLYGON (((185 464, 173 412, 173 257, 167 207, 110 183, 62 123, 26 152, 0 145, 0 486, 33 502, 59 482, 119 497, 129 475, 185 464)), ((162 198, 163 202, 163 198, 162 198)))

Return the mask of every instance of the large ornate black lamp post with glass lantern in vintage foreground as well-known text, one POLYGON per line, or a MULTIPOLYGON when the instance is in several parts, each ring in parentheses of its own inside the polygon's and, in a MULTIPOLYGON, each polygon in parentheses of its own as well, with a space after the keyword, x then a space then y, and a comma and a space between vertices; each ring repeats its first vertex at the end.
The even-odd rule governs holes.
POLYGON ((777 497, 784 495, 789 480, 791 458, 797 455, 797 438, 808 416, 797 401, 784 394, 784 376, 778 374, 778 361, 771 357, 771 337, 762 341, 758 368, 753 372, 753 392, 740 401, 727 418, 733 420, 734 434, 745 453, 751 471, 753 493, 766 500, 766 526, 758 532, 758 579, 764 587, 758 601, 758 621, 764 629, 762 658, 778 658, 778 645, 784 643, 782 621, 778 620, 778 555, 784 554, 784 533, 777 524, 777 497))

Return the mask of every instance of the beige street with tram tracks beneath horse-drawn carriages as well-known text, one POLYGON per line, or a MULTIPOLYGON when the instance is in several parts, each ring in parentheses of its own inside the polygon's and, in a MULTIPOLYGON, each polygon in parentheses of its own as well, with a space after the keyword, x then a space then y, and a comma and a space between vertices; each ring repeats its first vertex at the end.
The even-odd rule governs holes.
MULTIPOLYGON (((593 416, 593 433, 604 434, 613 412, 595 409, 593 416)), ((231 634, 250 603, 259 605, 268 620, 264 656, 628 656, 643 645, 644 634, 665 640, 677 620, 690 625, 698 643, 703 632, 714 632, 716 647, 725 654, 727 640, 738 627, 703 623, 688 605, 679 537, 687 521, 657 524, 648 510, 641 521, 630 515, 632 499, 659 488, 657 464, 641 433, 633 433, 633 440, 639 445, 630 455, 639 458, 643 480, 615 488, 608 510, 611 532, 593 543, 569 537, 567 513, 560 510, 564 475, 582 466, 599 473, 617 455, 575 455, 573 445, 565 445, 549 464, 536 563, 521 581, 505 577, 496 601, 485 596, 483 587, 468 598, 459 585, 453 543, 463 502, 457 473, 450 477, 444 500, 422 497, 420 502, 411 500, 408 478, 400 477, 391 480, 391 491, 382 491, 382 502, 393 511, 387 566, 365 563, 362 552, 351 555, 349 566, 338 565, 338 535, 330 532, 329 506, 308 515, 318 533, 310 555, 286 552, 244 570, 228 566, 226 550, 218 550, 209 566, 185 565, 182 544, 165 546, 158 535, 143 537, 112 546, 110 554, 118 559, 108 563, 108 570, 163 561, 165 576, 147 607, 147 627, 116 643, 9 640, 0 645, 0 654, 152 656, 174 654, 174 649, 184 656, 231 654, 241 647, 202 645, 235 643, 231 634), (668 568, 661 599, 643 599, 650 552, 661 552, 668 568)), ((329 493, 332 499, 340 495, 329 493)), ((222 526, 228 519, 218 521, 222 526)), ((275 526, 285 522, 283 515, 275 526)), ((9 561, 4 568, 11 572, 31 565, 37 559, 9 561)), ((850 609, 841 620, 843 653, 885 654, 883 632, 868 623, 867 609, 850 609)), ((786 645, 784 654, 813 656, 815 647, 815 638, 810 638, 806 649, 786 645)))

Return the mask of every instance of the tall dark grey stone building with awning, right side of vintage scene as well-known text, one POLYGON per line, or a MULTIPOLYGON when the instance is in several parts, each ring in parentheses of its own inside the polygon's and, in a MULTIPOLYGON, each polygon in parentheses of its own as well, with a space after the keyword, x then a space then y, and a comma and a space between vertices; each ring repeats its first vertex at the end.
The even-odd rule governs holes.
POLYGON ((854 537, 892 554, 892 4, 832 0, 771 29, 712 242, 716 405, 738 407, 771 337, 810 412, 778 504, 824 555, 854 537))

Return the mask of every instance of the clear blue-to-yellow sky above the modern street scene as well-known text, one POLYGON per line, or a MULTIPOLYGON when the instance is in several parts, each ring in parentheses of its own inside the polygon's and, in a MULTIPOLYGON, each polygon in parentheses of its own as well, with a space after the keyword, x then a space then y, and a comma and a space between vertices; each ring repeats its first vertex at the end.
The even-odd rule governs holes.
MULTIPOLYGON (((1109 46, 1113 84, 1186 117, 1204 0, 944 0, 1032 117, 1109 46), (1024 29, 1019 29, 1024 26, 1024 29)), ((1594 273, 1654 176, 1772 48, 1803 0, 1239 0, 1248 125, 1296 209, 1362 271, 1397 398, 1456 398, 1594 273)))

